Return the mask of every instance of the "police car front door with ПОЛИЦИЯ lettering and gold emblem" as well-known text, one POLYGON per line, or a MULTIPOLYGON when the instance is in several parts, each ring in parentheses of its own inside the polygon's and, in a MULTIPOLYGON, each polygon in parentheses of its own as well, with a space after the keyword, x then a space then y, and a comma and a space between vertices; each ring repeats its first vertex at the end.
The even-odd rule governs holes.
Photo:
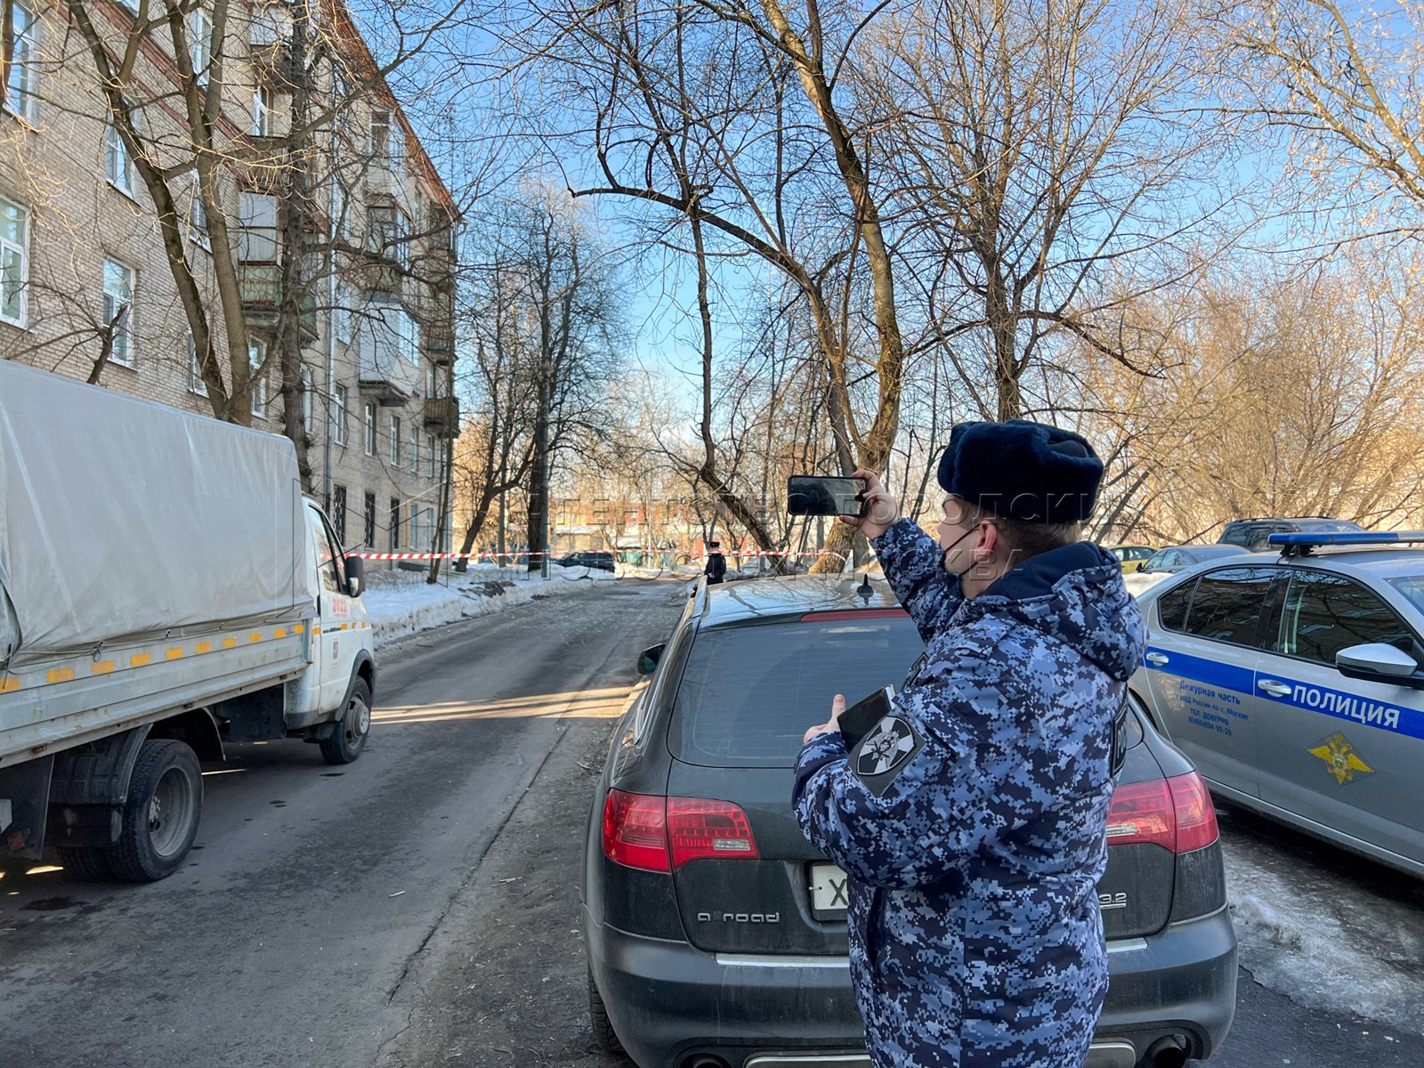
POLYGON ((1257 672, 1262 800, 1391 853, 1424 860, 1420 691, 1350 679, 1340 649, 1384 642, 1420 656, 1418 635, 1344 575, 1293 568, 1274 648, 1257 672))

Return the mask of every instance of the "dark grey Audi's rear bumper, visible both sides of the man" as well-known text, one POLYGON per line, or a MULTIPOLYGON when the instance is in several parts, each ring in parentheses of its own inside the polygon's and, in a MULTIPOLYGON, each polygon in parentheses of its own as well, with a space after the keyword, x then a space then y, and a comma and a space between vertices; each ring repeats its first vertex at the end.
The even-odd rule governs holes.
MULTIPOLYGON (((594 981, 641 1068, 682 1068, 703 1054, 729 1068, 869 1064, 844 957, 711 954, 584 920, 594 981)), ((1111 943, 1108 961, 1087 1068, 1131 1068, 1172 1037, 1196 1058, 1220 1045, 1236 1011, 1236 933, 1225 909, 1111 943)))

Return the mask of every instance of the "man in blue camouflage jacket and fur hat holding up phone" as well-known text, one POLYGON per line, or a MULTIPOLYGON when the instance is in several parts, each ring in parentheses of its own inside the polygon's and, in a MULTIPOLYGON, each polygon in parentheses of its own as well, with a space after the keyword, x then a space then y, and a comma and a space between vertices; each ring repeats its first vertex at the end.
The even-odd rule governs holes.
POLYGON ((1079 541, 1102 463, 1038 423, 954 427, 940 544, 869 471, 864 518, 928 646, 847 752, 806 735, 796 813, 850 874, 850 965, 876 1068, 1078 1068, 1108 988, 1112 721, 1145 628, 1079 541))

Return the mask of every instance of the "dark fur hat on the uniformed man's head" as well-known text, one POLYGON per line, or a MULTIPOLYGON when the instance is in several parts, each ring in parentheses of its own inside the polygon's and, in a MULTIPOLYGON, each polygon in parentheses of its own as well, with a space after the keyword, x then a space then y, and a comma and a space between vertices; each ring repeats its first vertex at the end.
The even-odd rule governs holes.
POLYGON ((940 457, 940 486, 1024 523, 1081 523, 1092 513, 1102 460, 1082 434, 1045 423, 960 423, 940 457))

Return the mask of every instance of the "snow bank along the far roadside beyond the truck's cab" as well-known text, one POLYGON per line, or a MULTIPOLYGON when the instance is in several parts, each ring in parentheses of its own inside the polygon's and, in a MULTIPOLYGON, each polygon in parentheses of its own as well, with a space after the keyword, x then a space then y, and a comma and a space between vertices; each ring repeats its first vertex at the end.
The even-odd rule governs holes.
POLYGON ((380 646, 397 638, 443 627, 457 619, 503 612, 510 605, 527 604, 537 597, 558 597, 592 590, 594 582, 612 581, 607 571, 555 567, 545 580, 535 571, 527 575, 520 568, 476 564, 464 575, 450 575, 434 585, 423 572, 367 572, 366 615, 370 618, 372 638, 380 646))

